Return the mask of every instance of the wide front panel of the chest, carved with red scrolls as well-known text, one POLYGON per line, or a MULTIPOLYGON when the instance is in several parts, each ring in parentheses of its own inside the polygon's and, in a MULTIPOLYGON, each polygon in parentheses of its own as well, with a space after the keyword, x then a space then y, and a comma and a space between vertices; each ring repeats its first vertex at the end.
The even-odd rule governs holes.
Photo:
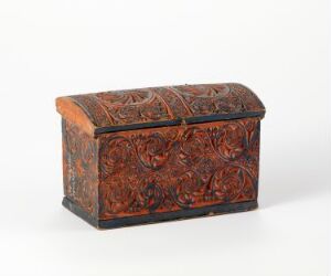
POLYGON ((256 200, 259 118, 102 135, 99 219, 256 200))

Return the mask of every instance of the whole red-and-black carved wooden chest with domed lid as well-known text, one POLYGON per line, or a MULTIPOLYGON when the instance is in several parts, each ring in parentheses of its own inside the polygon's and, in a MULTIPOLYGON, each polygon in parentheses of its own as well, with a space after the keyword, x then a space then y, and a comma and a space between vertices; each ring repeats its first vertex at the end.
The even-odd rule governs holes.
POLYGON ((98 229, 257 208, 265 107, 241 84, 56 99, 63 205, 98 229))

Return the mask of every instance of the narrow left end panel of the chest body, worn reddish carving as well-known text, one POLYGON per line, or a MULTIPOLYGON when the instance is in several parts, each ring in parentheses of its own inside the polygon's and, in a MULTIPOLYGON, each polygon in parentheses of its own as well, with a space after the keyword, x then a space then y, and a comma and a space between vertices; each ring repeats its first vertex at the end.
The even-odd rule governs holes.
POLYGON ((67 120, 63 120, 62 134, 64 194, 97 217, 97 142, 67 120))

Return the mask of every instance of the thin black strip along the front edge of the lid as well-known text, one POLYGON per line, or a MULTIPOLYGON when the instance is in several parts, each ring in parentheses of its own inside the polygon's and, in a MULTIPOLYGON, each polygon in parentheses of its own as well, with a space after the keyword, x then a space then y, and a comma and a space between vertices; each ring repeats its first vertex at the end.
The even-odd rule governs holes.
POLYGON ((216 114, 216 115, 200 116, 200 117, 178 118, 173 120, 150 121, 150 123, 134 124, 134 125, 111 126, 111 127, 98 127, 95 129, 94 134, 100 135, 100 134, 135 130, 135 129, 142 129, 142 128, 169 127, 169 126, 179 126, 182 124, 190 125, 190 124, 242 119, 242 118, 250 118, 250 117, 263 118, 264 116, 265 116, 265 110, 236 113, 236 114, 216 114))

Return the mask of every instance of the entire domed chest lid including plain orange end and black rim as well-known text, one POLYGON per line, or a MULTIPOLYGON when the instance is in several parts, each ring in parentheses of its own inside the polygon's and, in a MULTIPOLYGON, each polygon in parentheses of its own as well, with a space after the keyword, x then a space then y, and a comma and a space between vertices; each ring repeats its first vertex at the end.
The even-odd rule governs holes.
POLYGON ((56 107, 90 135, 265 115, 250 89, 232 83, 75 95, 57 98, 56 107))

